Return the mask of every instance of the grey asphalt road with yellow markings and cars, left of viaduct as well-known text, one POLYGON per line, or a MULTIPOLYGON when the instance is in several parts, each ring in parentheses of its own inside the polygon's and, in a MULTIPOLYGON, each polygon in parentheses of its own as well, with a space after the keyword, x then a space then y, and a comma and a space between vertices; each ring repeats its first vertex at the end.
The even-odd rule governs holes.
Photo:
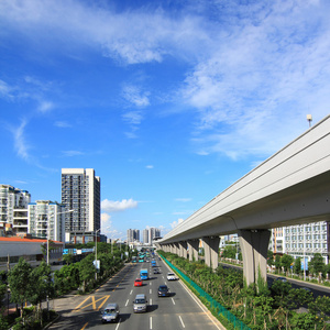
POLYGON ((156 262, 161 274, 153 274, 151 263, 131 264, 94 294, 68 296, 55 300, 54 308, 62 317, 50 329, 224 329, 185 288, 182 280, 167 282, 167 265, 163 261, 156 262), (140 277, 141 268, 147 268, 151 278, 143 280, 142 287, 134 287, 134 279, 140 277), (169 297, 157 296, 157 288, 162 284, 169 287, 169 297), (133 312, 133 300, 136 294, 146 295, 148 306, 144 314, 133 312), (102 324, 100 309, 109 302, 119 305, 120 320, 118 323, 102 324))

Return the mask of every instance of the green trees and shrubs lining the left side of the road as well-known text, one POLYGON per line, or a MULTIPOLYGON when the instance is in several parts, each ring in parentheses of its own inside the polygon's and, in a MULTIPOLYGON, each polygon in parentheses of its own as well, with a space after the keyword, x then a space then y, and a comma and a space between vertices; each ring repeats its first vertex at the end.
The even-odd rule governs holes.
MULTIPOLYGON (((94 243, 86 244, 92 248, 94 243)), ((0 279, 0 330, 8 329, 12 324, 13 330, 18 329, 42 329, 46 322, 56 317, 54 311, 44 309, 42 302, 46 299, 54 299, 72 292, 86 294, 106 282, 123 266, 124 248, 107 243, 98 243, 98 260, 100 270, 97 272, 95 253, 88 254, 81 261, 74 263, 73 255, 66 255, 65 265, 59 271, 52 273, 51 266, 42 262, 40 266, 32 266, 21 257, 19 263, 8 274, 1 272, 0 279), (96 278, 97 277, 97 278, 96 278), (6 283, 4 283, 6 282, 6 283), (3 316, 8 308, 1 301, 7 297, 7 289, 10 288, 10 301, 16 304, 16 312, 3 316), (29 301, 32 307, 24 308, 29 301)))

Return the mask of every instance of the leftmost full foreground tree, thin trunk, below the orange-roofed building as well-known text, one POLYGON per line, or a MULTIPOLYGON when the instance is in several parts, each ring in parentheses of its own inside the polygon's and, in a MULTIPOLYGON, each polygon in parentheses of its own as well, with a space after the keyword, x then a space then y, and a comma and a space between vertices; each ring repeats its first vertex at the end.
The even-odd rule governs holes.
POLYGON ((30 296, 29 283, 31 265, 20 257, 19 263, 9 272, 8 282, 11 290, 11 301, 21 305, 21 318, 23 317, 23 306, 30 296))

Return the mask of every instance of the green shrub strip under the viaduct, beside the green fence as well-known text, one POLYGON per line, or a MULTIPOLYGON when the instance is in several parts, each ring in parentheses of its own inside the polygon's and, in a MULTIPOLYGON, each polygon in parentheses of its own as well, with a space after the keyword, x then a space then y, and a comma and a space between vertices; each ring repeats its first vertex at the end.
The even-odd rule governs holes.
MULTIPOLYGON (((315 299, 311 292, 294 289, 288 282, 282 280, 274 280, 270 288, 263 280, 246 287, 241 271, 219 266, 213 272, 204 261, 189 262, 176 254, 157 252, 250 329, 330 329, 329 297, 315 299)), ((218 314, 211 306, 209 308, 218 314)), ((223 318, 220 320, 222 322, 223 318)), ((226 327, 234 329, 230 323, 226 327)))

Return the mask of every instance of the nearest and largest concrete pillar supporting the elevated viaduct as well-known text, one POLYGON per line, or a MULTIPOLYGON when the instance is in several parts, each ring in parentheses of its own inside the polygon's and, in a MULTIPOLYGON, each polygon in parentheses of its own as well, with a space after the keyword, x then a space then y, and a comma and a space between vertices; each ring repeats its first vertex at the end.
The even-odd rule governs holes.
POLYGON ((270 230, 240 230, 239 239, 243 257, 243 276, 249 286, 256 283, 258 276, 267 279, 267 250, 270 230))

